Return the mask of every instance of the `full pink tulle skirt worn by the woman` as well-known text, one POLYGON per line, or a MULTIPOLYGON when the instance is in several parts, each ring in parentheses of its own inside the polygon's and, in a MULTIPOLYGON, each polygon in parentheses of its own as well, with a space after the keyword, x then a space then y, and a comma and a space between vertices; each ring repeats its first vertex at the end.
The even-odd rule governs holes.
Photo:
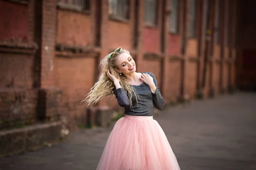
POLYGON ((163 129, 153 116, 119 119, 97 170, 180 170, 163 129))

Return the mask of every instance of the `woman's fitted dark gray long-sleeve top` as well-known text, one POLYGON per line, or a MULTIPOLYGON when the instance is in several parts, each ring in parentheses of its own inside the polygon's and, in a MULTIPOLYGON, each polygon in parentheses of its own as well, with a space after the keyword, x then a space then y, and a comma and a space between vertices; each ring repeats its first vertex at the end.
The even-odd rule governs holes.
POLYGON ((116 95, 118 104, 125 108, 125 114, 134 116, 152 116, 154 106, 162 110, 165 102, 160 90, 157 86, 157 80, 154 74, 147 72, 151 77, 153 77, 154 84, 157 87, 156 94, 153 94, 146 83, 140 85, 131 85, 137 94, 138 104, 135 96, 132 96, 132 107, 130 107, 130 100, 128 98, 128 93, 125 92, 123 88, 114 88, 113 92, 116 95))

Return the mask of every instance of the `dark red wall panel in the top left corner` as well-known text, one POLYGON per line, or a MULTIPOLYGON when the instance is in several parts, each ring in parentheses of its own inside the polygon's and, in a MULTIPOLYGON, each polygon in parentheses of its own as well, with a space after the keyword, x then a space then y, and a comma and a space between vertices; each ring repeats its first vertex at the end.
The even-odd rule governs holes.
POLYGON ((0 40, 28 40, 28 5, 0 0, 0 40))

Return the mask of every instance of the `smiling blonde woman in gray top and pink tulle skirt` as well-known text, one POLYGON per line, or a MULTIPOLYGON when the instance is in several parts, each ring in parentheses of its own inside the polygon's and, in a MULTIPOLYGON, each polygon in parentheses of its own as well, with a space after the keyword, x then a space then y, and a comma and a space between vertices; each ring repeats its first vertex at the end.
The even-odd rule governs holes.
POLYGON ((165 102, 152 73, 137 73, 130 53, 117 48, 102 61, 102 74, 84 100, 87 106, 115 94, 125 108, 108 137, 97 170, 180 170, 153 107, 165 102), (154 105, 154 106, 153 106, 154 105))

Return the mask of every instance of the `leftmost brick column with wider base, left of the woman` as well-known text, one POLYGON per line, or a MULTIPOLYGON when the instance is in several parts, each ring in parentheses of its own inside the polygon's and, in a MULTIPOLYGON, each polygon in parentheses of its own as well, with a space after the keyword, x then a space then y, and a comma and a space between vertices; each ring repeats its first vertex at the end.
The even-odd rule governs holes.
POLYGON ((40 58, 38 66, 40 70, 40 87, 38 93, 38 119, 56 121, 61 113, 62 90, 54 87, 55 39, 57 0, 38 0, 35 3, 35 40, 38 43, 35 60, 40 58), (38 29, 37 29, 38 28, 38 29))

